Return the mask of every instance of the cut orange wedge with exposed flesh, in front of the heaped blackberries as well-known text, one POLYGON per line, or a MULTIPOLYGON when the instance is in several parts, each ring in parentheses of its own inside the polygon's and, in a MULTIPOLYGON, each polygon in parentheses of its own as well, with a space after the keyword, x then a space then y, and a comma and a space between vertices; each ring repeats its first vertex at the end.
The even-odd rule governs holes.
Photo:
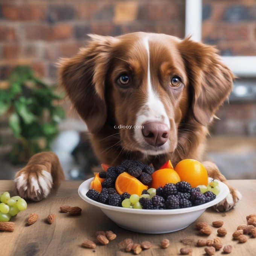
POLYGON ((123 172, 116 178, 115 188, 118 194, 128 192, 130 195, 141 195, 143 189, 148 189, 148 186, 142 184, 137 178, 123 172))

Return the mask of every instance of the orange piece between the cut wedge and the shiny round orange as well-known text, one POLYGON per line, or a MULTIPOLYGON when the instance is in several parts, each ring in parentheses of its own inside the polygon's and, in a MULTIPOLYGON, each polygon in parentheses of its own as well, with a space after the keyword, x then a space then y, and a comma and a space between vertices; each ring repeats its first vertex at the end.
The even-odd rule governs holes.
POLYGON ((173 169, 165 168, 159 169, 151 175, 152 182, 150 187, 157 189, 159 186, 163 187, 166 183, 177 183, 180 177, 173 169))

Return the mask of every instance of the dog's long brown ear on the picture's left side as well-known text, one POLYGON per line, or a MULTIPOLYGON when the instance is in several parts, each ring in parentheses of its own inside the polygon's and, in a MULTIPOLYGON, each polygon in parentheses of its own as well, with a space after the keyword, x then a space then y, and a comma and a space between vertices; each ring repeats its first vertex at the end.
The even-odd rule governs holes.
POLYGON ((59 78, 78 114, 91 133, 101 130, 107 120, 105 76, 111 49, 119 40, 89 35, 87 47, 69 59, 59 61, 59 78))

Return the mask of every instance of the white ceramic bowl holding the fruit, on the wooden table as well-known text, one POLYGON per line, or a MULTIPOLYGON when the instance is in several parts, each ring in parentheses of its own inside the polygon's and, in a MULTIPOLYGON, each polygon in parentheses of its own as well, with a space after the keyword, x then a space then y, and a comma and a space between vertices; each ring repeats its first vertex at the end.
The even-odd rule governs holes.
MULTIPOLYGON (((79 196, 89 204, 99 207, 118 226, 134 232, 161 234, 186 228, 210 206, 222 201, 229 194, 226 184, 218 181, 220 192, 215 200, 199 206, 171 210, 143 210, 110 206, 91 200, 85 194, 93 178, 84 181, 78 188, 79 196)), ((209 178, 209 181, 211 178, 209 178)))

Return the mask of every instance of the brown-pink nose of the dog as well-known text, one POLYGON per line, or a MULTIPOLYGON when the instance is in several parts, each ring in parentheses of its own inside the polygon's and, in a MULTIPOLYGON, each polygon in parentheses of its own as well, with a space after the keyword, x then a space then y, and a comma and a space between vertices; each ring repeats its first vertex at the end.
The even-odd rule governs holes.
POLYGON ((142 134, 149 145, 162 146, 168 140, 169 127, 164 123, 150 122, 143 124, 142 134))

